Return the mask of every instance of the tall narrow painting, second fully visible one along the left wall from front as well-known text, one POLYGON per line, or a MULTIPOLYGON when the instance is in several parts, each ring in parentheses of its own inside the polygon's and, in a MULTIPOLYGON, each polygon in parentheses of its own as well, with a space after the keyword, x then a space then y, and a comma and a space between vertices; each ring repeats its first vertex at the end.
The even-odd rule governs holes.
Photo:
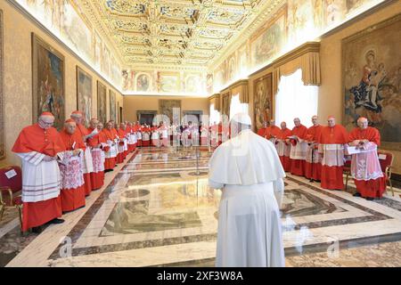
POLYGON ((77 66, 77 109, 84 113, 85 124, 92 118, 92 77, 77 66))

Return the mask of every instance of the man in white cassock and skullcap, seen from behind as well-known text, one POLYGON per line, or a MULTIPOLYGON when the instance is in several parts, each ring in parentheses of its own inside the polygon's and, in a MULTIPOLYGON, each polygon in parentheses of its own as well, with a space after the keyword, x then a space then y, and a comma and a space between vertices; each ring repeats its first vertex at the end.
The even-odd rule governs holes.
POLYGON ((236 114, 230 126, 232 139, 209 161, 209 186, 223 191, 216 266, 284 266, 282 164, 273 143, 250 130, 250 116, 236 114))

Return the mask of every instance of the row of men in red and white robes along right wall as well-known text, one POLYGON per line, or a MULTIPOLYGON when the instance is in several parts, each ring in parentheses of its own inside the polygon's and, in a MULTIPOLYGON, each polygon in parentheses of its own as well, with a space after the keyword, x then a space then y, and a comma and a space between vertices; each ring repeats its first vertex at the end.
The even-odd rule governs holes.
POLYGON ((285 171, 319 181, 322 188, 330 190, 344 189, 344 157, 350 146, 356 147, 359 151, 352 155, 351 162, 356 196, 381 198, 386 178, 377 155, 381 144, 379 131, 368 126, 367 119, 362 117, 349 134, 344 126, 336 124, 333 116, 328 118, 328 126, 319 125, 317 120, 317 116, 312 117, 313 126, 307 128, 295 118, 292 130, 285 122, 279 128, 271 120, 270 126, 259 129, 258 134, 274 142, 285 171))

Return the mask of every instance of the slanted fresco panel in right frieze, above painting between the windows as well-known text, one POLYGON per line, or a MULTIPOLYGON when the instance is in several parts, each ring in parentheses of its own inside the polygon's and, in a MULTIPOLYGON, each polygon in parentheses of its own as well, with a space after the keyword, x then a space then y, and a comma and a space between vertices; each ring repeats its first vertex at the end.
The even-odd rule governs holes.
POLYGON ((280 53, 286 40, 287 6, 260 28, 250 39, 250 64, 259 67, 280 53))

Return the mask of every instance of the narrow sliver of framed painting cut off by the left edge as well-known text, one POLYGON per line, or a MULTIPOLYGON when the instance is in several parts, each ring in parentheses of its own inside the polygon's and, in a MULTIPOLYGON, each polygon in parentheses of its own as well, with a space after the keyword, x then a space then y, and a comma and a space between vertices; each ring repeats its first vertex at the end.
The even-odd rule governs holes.
POLYGON ((3 10, 0 10, 0 159, 5 158, 4 147, 4 50, 3 10))

